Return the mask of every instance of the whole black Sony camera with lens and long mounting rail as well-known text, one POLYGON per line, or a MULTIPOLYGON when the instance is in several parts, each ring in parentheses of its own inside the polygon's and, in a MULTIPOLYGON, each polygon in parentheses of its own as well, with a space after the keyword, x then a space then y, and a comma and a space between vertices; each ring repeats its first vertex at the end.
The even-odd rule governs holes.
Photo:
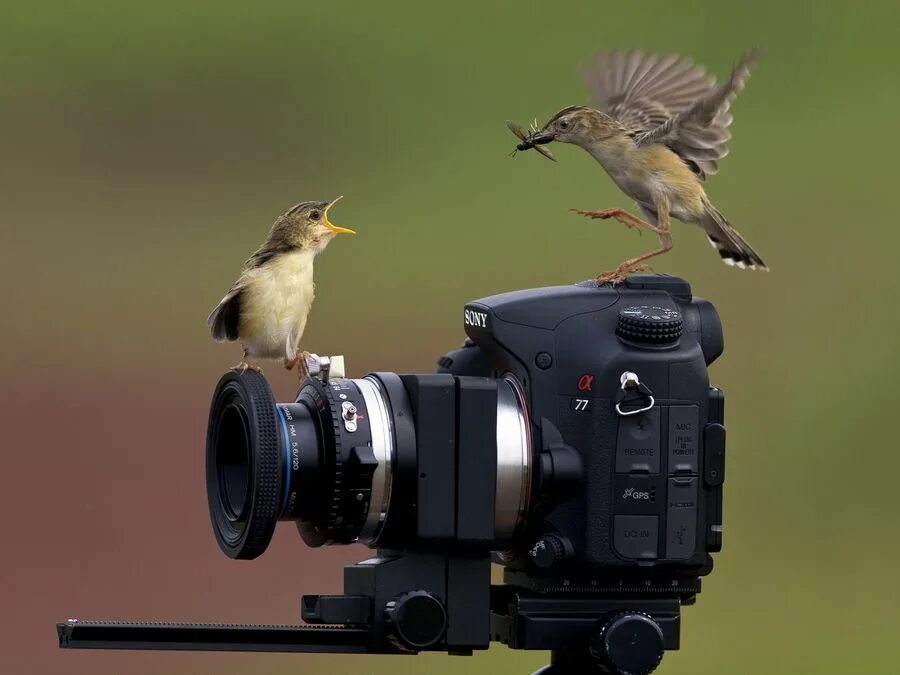
MULTIPOLYGON (((306 624, 70 620, 62 646, 471 654, 552 652, 541 672, 649 673, 722 545, 724 395, 713 305, 666 275, 470 302, 431 374, 329 372, 276 402, 229 371, 206 463, 232 557, 279 521, 309 546, 361 543, 306 624), (491 564, 503 583, 491 583, 491 564)), ((339 370, 339 369, 338 369, 339 370)))

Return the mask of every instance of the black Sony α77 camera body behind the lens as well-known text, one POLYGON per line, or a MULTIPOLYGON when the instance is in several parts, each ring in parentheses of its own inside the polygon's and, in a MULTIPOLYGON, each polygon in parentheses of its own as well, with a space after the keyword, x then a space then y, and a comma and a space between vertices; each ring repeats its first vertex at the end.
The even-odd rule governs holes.
POLYGON ((544 437, 538 474, 560 436, 582 462, 577 488, 563 491, 572 498, 551 499, 553 508, 529 518, 508 565, 697 576, 721 548, 724 397, 707 374, 723 349, 718 315, 680 279, 632 277, 624 286, 469 303, 467 348, 442 359, 448 372, 521 383, 532 437, 544 437), (654 405, 622 415, 616 398, 628 372, 654 405))

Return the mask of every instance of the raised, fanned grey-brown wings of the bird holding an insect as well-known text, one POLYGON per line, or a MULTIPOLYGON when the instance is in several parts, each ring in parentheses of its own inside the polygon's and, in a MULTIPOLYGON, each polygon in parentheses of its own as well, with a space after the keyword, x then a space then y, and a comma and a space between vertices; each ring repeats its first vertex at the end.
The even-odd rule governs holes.
POLYGON ((665 143, 705 178, 728 154, 728 108, 759 56, 749 52, 727 81, 717 83, 703 66, 677 54, 613 50, 594 57, 585 81, 591 102, 634 132, 638 145, 665 143))

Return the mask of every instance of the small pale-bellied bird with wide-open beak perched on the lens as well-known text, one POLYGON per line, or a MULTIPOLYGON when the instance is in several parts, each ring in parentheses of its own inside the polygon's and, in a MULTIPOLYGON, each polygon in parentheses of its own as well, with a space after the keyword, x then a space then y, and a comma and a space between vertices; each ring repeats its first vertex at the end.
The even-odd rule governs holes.
POLYGON ((313 260, 335 235, 356 234, 328 220, 330 202, 300 202, 278 217, 262 246, 207 323, 217 342, 239 340, 244 348, 235 369, 253 367, 248 359, 284 359, 307 377, 309 352, 299 351, 315 296, 313 260))

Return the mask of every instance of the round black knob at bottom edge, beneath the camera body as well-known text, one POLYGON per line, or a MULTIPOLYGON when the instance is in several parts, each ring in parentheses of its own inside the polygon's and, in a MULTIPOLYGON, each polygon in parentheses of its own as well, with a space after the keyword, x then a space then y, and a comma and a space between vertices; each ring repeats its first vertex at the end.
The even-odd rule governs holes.
POLYGON ((614 673, 649 675, 662 661, 662 629, 648 614, 620 612, 591 636, 591 653, 614 673))

